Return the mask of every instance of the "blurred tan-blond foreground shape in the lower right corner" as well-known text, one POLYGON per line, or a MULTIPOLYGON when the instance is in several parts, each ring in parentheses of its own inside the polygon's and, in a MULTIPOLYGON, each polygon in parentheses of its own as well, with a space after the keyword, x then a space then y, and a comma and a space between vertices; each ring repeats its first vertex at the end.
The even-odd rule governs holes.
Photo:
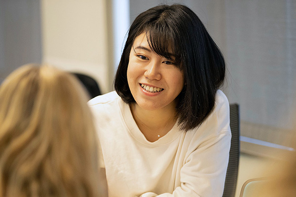
MULTIPOLYGON (((296 120, 296 117, 294 118, 296 120)), ((287 139, 292 142, 287 150, 273 154, 274 160, 263 176, 250 179, 241 190, 243 197, 296 197, 296 124, 287 139), (291 140, 292 139, 292 140, 291 140), (251 183, 251 184, 250 184, 251 183)))

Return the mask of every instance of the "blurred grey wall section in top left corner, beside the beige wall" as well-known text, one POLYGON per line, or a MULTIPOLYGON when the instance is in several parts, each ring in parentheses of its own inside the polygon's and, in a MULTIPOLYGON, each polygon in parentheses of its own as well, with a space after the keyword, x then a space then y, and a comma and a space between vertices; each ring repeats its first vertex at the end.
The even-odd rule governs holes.
POLYGON ((40 0, 0 0, 0 83, 17 67, 41 59, 40 0))

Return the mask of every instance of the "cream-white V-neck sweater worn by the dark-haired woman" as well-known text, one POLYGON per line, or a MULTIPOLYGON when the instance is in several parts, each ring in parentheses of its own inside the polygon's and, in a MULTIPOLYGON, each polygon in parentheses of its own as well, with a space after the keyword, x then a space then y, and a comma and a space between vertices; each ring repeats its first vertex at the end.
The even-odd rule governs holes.
POLYGON ((181 132, 176 124, 155 142, 145 138, 116 92, 89 105, 109 197, 222 197, 231 139, 229 104, 222 91, 199 128, 181 132))

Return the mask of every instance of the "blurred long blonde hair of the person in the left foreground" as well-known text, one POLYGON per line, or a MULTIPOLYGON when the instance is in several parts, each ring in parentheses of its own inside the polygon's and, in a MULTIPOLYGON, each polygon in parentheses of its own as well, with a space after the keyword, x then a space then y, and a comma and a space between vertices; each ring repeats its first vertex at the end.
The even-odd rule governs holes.
POLYGON ((100 196, 87 96, 69 73, 25 65, 0 87, 0 197, 100 196))

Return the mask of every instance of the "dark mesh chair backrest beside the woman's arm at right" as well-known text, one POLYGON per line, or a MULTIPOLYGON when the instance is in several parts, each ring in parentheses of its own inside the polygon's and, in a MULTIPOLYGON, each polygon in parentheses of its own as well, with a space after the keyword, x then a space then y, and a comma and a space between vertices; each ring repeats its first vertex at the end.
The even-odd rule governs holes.
POLYGON ((230 107, 230 130, 231 130, 231 145, 229 152, 229 162, 226 171, 224 192, 222 197, 234 197, 237 174, 238 174, 238 164, 239 164, 239 154, 240 154, 240 119, 239 119, 239 105, 233 103, 229 105, 230 107))

